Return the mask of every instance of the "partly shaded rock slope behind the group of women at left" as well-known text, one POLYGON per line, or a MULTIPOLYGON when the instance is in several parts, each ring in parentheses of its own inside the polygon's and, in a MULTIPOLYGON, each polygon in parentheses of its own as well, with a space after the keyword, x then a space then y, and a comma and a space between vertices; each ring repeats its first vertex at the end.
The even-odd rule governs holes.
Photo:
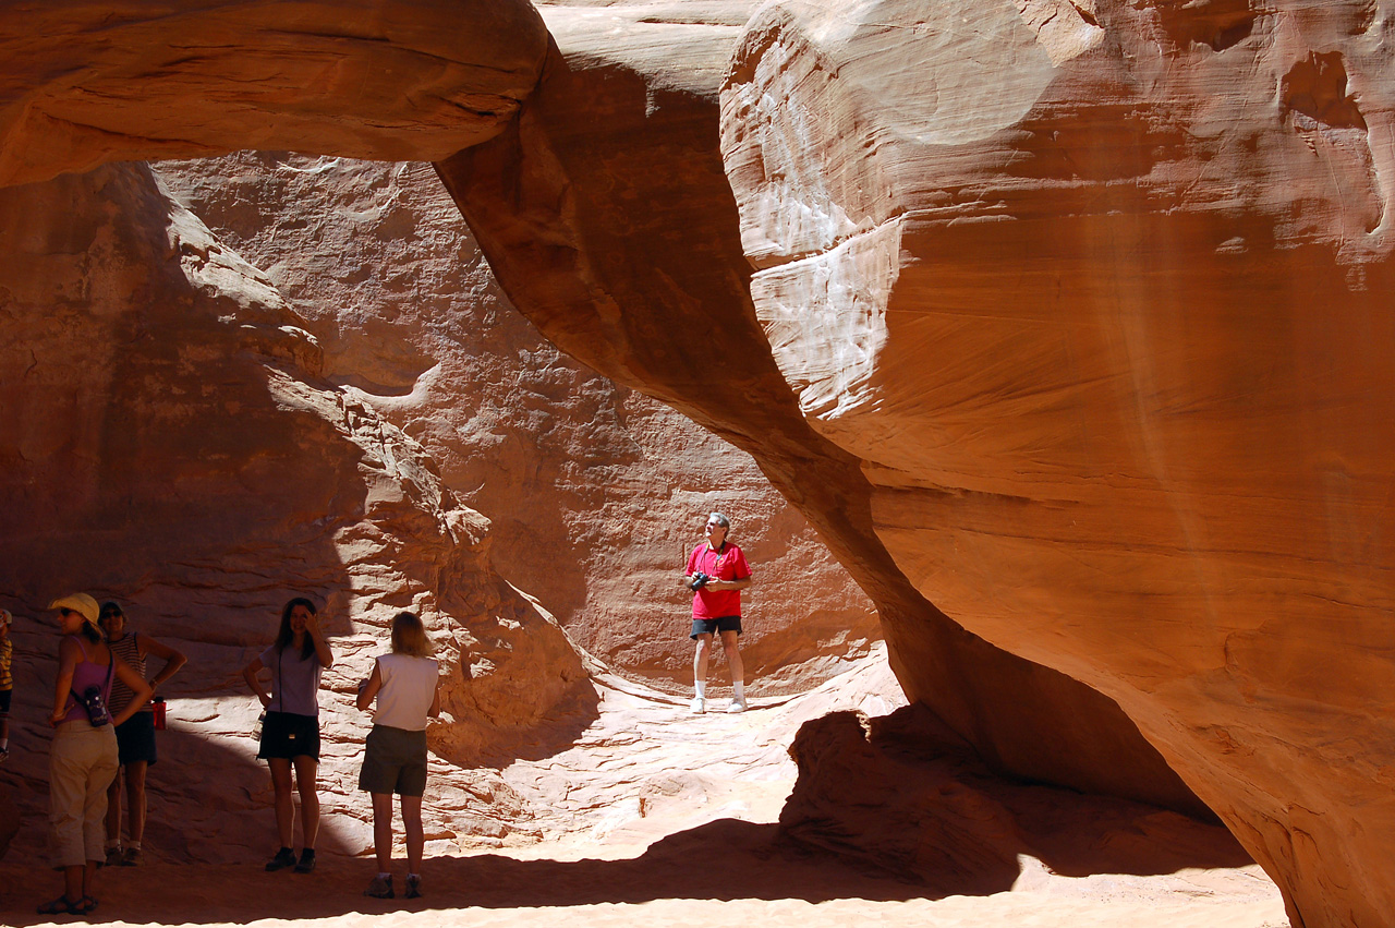
POLYGON ((566 635, 490 567, 488 522, 416 441, 324 380, 306 321, 146 166, 3 190, 0 227, 0 601, 17 617, 6 776, 25 784, 27 853, 42 848, 59 645, 42 607, 74 588, 123 601, 134 631, 190 657, 167 688, 160 855, 246 861, 273 840, 240 670, 293 594, 324 604, 338 657, 321 694, 336 814, 322 847, 371 843, 357 791, 370 719, 353 695, 403 608, 442 661, 432 766, 453 776, 434 787, 428 829, 526 833, 506 784, 470 768, 545 749, 594 719, 597 696, 566 635))

